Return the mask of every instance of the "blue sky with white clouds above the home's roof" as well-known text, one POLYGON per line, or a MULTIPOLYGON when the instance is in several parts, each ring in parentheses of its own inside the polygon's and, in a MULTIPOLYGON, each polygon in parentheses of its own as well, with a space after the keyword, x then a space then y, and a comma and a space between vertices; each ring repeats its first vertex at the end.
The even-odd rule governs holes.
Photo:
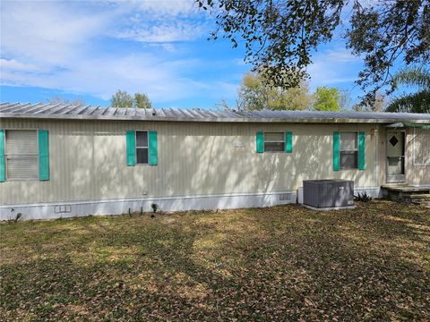
MULTIPOLYGON (((214 17, 193 0, 3 1, 0 100, 51 97, 108 106, 118 89, 146 93, 155 107, 234 105, 245 72, 243 44, 208 40, 214 17)), ((308 66, 310 88, 362 93, 361 60, 336 36, 308 66)))

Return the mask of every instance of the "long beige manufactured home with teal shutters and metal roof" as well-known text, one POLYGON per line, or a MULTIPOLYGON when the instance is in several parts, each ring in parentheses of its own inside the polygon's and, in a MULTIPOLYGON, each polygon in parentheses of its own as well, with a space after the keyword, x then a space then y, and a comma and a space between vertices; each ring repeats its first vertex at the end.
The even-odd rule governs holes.
POLYGON ((430 114, 0 105, 0 218, 265 207, 304 180, 430 187, 430 114))

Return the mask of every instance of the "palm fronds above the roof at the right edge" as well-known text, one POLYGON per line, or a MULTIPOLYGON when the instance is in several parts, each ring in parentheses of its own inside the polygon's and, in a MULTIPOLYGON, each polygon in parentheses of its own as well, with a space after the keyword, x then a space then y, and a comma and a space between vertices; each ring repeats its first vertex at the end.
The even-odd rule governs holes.
POLYGON ((417 87, 416 93, 404 94, 391 100, 387 112, 430 113, 430 70, 425 67, 409 67, 392 79, 392 89, 400 85, 417 87))

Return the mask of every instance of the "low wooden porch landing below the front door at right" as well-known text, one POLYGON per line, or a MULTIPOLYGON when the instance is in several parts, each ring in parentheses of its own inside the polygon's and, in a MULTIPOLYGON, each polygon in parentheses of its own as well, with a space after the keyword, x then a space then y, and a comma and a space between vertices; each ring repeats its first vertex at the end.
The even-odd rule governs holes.
POLYGON ((430 188, 407 185, 382 186, 383 199, 430 206, 430 188))

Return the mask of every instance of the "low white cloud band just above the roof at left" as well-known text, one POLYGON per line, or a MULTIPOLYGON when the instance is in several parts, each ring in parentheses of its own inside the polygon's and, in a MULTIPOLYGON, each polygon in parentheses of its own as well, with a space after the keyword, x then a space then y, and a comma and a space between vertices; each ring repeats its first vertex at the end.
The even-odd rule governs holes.
POLYGON ((151 55, 128 55, 121 58, 87 59, 69 68, 44 75, 17 72, 9 68, 2 71, 3 85, 27 85, 51 89, 64 89, 86 93, 104 99, 117 89, 130 92, 145 91, 158 102, 185 98, 205 89, 205 85, 181 76, 193 61, 166 63, 151 55))

